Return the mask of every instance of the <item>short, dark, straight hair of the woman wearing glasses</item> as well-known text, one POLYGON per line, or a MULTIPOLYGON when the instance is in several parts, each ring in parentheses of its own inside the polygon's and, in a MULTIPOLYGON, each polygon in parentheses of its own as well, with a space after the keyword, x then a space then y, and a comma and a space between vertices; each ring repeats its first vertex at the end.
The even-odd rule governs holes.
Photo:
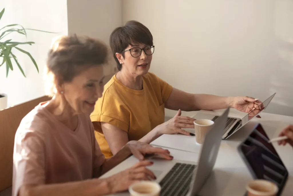
MULTIPOLYGON (((153 36, 149 29, 138 21, 127 21, 124 26, 117 27, 110 35, 110 47, 120 71, 122 65, 116 58, 116 52, 122 53, 128 45, 144 43, 153 45, 153 36)), ((122 53, 124 58, 124 53, 122 53)))

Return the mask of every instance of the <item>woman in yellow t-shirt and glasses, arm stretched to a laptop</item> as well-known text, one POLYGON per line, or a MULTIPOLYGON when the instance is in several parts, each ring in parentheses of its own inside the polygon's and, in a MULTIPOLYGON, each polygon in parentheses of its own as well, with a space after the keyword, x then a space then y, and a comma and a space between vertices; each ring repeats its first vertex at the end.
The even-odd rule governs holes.
POLYGON ((182 128, 193 128, 194 119, 181 116, 181 110, 230 106, 248 112, 261 103, 251 97, 186 93, 149 73, 153 36, 137 21, 116 28, 111 33, 110 46, 119 71, 105 85, 103 96, 91 113, 95 136, 106 158, 115 155, 130 140, 150 143, 162 134, 191 135, 182 128), (178 113, 164 123, 165 108, 178 113))

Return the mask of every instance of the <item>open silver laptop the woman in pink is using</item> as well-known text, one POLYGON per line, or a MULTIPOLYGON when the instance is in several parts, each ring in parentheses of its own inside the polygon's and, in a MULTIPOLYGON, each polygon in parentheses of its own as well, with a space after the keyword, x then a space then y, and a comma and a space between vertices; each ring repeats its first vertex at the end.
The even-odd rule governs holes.
POLYGON ((160 196, 194 196, 200 191, 216 162, 228 113, 229 108, 207 133, 198 163, 151 159, 154 165, 148 168, 154 172, 156 182, 161 185, 160 196))

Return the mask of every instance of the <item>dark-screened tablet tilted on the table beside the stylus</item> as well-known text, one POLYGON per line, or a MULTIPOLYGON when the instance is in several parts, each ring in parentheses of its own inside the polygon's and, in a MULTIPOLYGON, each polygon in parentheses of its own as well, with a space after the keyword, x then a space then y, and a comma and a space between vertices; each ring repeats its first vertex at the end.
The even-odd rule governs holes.
POLYGON ((270 180, 279 187, 280 195, 288 178, 288 170, 265 133, 257 124, 237 150, 254 179, 270 180))

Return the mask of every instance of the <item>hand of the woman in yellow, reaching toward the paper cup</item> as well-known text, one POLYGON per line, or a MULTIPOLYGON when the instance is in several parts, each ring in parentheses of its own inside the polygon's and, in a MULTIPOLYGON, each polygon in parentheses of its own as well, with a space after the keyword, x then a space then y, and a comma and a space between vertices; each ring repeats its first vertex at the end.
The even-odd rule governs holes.
POLYGON ((194 118, 190 118, 187 116, 181 116, 181 110, 179 109, 177 114, 168 120, 167 122, 158 125, 156 128, 158 129, 159 134, 174 134, 174 133, 182 133, 184 135, 194 135, 189 133, 182 128, 194 128, 193 121, 194 118))

